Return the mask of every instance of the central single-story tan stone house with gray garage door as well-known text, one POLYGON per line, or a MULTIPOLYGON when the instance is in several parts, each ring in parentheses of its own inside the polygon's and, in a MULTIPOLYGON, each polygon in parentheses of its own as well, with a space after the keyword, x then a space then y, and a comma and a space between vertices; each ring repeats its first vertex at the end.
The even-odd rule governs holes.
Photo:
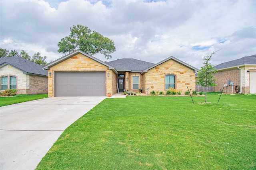
POLYGON ((184 94, 195 89, 197 68, 175 57, 157 64, 136 59, 103 62, 76 50, 43 67, 48 70, 48 96, 107 96, 129 90, 166 92, 173 87, 184 94))

